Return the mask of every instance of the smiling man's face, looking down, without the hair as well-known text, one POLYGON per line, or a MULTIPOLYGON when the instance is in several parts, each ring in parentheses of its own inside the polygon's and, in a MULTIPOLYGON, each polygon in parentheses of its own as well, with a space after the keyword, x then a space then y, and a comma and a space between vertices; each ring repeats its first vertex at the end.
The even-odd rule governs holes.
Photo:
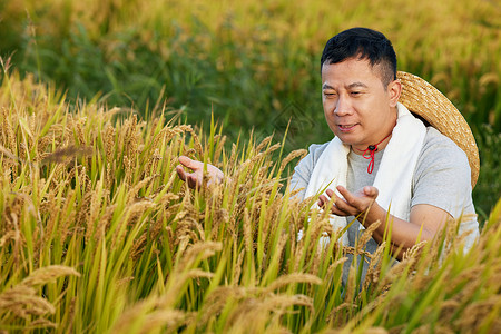
POLYGON ((364 150, 391 134, 396 124, 399 81, 385 89, 369 60, 356 58, 322 67, 322 102, 328 127, 341 141, 364 150))

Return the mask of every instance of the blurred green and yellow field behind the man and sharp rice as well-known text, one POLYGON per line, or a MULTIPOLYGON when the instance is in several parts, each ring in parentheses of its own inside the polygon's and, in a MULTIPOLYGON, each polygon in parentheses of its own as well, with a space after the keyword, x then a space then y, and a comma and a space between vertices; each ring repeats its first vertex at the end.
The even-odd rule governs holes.
MULTIPOLYGON (((181 110, 228 143, 271 134, 286 151, 332 138, 320 56, 328 38, 370 27, 394 45, 399 69, 436 86, 473 129, 481 220, 501 197, 501 3, 466 0, 0 0, 4 69, 139 115, 181 110)), ((179 114, 177 114, 179 115, 179 114)))

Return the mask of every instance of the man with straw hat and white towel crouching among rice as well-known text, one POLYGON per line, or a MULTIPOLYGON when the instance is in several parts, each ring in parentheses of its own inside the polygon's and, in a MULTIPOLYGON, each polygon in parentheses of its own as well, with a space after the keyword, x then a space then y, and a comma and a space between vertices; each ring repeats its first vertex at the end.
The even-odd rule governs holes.
MULTIPOLYGON (((375 252, 392 224, 392 247, 401 258, 416 242, 431 240, 448 219, 463 217, 460 234, 469 230, 465 248, 471 247, 479 235, 471 197, 479 157, 454 106, 421 78, 397 72, 391 42, 371 29, 331 38, 321 72, 324 115, 335 137, 310 146, 296 166, 292 188, 304 188, 298 196, 326 188, 320 207, 335 197, 333 226, 354 222, 341 238, 346 246, 380 220, 366 250, 375 252)), ((193 170, 178 166, 179 177, 199 185, 203 164, 187 157, 179 161, 193 170)), ((214 166, 207 171, 214 180, 224 177, 214 166)))

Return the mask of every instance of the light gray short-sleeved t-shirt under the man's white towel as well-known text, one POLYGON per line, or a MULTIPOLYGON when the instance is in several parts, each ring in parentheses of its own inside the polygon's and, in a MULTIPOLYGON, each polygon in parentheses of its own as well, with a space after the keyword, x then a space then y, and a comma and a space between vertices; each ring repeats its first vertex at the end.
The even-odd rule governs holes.
MULTIPOLYGON (((328 143, 310 146, 310 154, 294 169, 291 180, 292 189, 306 189, 315 164, 327 145, 328 143)), ((361 155, 350 151, 346 179, 346 188, 350 191, 373 185, 383 154, 384 150, 375 153, 374 170, 372 174, 369 174, 369 160, 361 155)), ((303 198, 304 191, 301 191, 297 196, 303 198)), ((411 193, 411 207, 418 204, 433 205, 448 212, 454 218, 460 218, 461 215, 475 214, 471 197, 471 169, 468 157, 454 141, 432 127, 426 128, 423 148, 418 157, 416 168, 412 178, 411 193)), ((352 222, 355 217, 352 216, 347 219, 352 222)), ((477 218, 461 223, 460 234, 464 230, 474 229, 474 233, 468 237, 466 248, 472 246, 478 236, 478 227, 477 218)), ((360 223, 355 222, 348 228, 350 246, 355 245, 360 234, 360 223)), ((374 253, 376 248, 377 243, 371 239, 365 250, 374 253)), ((346 279, 351 263, 352 256, 348 256, 343 273, 343 282, 346 279)), ((365 264, 363 277, 366 269, 367 265, 365 264)))

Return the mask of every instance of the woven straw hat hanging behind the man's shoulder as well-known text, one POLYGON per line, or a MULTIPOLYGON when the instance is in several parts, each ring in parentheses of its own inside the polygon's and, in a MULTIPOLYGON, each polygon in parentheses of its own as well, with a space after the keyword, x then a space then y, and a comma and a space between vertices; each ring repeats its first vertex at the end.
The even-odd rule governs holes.
POLYGON ((420 77, 403 71, 399 71, 396 77, 402 82, 399 101, 451 138, 466 154, 474 188, 480 169, 479 149, 464 117, 443 94, 420 77))

